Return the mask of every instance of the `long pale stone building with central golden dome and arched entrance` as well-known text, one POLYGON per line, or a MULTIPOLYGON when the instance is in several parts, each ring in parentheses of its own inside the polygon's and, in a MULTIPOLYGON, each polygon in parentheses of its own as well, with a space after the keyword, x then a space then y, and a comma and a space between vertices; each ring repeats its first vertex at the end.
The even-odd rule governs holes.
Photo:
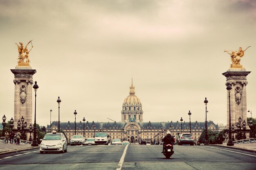
MULTIPOLYGON (((124 99, 121 110, 120 122, 76 122, 76 135, 84 135, 85 138, 93 137, 94 132, 108 132, 111 139, 119 138, 130 142, 141 140, 161 141, 166 131, 170 130, 175 137, 182 132, 190 132, 189 122, 167 121, 167 122, 144 122, 143 110, 140 99, 135 95, 133 83, 130 86, 129 95, 124 99), (95 127, 95 128, 93 128, 95 127), (85 133, 85 134, 83 134, 85 133)), ((207 122, 208 129, 218 131, 218 125, 213 121, 207 122)), ((60 128, 65 132, 67 138, 74 134, 74 122, 60 122, 60 128)), ((47 131, 50 131, 47 126, 47 131)), ((58 121, 52 122, 52 130, 58 129, 58 121)), ((191 133, 197 140, 205 129, 205 122, 191 122, 191 133)))

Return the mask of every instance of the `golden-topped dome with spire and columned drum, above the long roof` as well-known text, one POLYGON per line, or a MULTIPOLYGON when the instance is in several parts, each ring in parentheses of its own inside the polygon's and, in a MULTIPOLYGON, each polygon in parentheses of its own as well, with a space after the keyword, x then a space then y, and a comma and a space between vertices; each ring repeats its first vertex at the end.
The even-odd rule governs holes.
POLYGON ((143 110, 139 97, 135 95, 133 84, 130 86, 130 95, 124 99, 122 114, 122 122, 128 122, 131 117, 137 122, 143 122, 143 110))

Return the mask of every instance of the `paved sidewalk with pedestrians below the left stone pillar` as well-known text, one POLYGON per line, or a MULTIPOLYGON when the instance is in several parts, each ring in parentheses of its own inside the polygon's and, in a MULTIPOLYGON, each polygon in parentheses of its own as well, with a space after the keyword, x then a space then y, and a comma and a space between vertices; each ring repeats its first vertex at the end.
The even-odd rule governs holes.
POLYGON ((14 152, 22 152, 25 150, 32 150, 39 148, 38 146, 31 146, 31 144, 3 144, 0 143, 0 155, 5 155, 14 152))

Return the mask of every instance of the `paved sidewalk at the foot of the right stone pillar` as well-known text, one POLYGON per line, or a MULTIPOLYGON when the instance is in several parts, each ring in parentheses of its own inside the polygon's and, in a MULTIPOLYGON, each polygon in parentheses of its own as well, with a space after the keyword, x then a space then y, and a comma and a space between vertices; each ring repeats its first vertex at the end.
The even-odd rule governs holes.
POLYGON ((211 145, 211 146, 220 146, 220 147, 223 147, 223 148, 232 148, 232 149, 236 149, 236 150, 243 150, 243 151, 247 151, 247 152, 256 153, 256 143, 234 144, 234 146, 227 146, 227 143, 225 143, 225 144, 211 145))

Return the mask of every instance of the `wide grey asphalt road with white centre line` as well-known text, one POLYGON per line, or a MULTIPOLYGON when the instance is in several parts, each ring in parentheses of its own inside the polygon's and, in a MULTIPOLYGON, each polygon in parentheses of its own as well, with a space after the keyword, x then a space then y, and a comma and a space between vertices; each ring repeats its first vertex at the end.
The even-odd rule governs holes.
POLYGON ((0 156, 0 170, 255 170, 256 153, 213 146, 69 146, 67 153, 28 150, 0 156))

